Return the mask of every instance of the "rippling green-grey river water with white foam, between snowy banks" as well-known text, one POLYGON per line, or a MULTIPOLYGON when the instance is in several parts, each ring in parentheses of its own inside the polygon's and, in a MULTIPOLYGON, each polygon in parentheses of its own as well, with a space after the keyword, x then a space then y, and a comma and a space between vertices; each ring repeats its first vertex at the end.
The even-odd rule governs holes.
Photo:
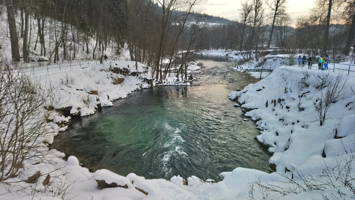
POLYGON ((256 126, 228 94, 255 79, 231 70, 236 60, 198 57, 191 86, 133 92, 95 115, 77 118, 51 148, 74 155, 91 170, 146 178, 192 175, 220 180, 236 167, 269 171, 267 151, 253 140, 256 126))

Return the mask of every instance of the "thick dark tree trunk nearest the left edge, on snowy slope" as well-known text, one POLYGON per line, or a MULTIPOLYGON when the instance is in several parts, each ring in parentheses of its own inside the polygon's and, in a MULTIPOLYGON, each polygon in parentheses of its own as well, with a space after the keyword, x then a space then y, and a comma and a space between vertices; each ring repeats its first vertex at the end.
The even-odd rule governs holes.
POLYGON ((18 49, 18 37, 16 30, 15 11, 12 0, 6 0, 7 22, 9 23, 9 33, 11 41, 11 55, 15 62, 20 61, 20 50, 18 49))

